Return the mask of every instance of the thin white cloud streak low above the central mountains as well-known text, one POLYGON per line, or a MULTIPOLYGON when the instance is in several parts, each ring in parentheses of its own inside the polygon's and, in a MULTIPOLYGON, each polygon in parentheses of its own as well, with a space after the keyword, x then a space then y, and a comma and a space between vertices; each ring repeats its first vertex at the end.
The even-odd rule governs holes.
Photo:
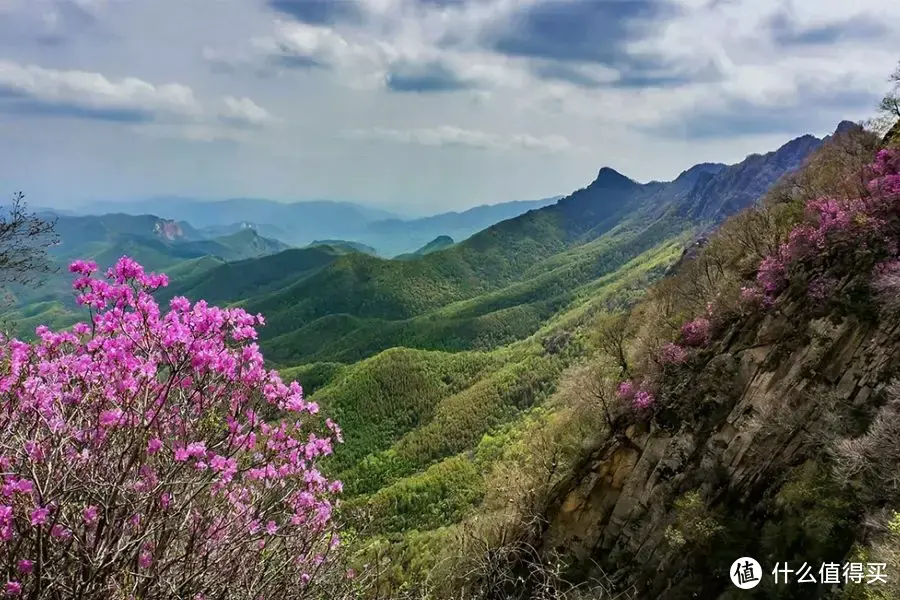
POLYGON ((574 149, 565 137, 551 135, 535 137, 529 134, 498 135, 485 131, 461 129, 450 125, 421 129, 391 129, 375 127, 367 130, 350 130, 344 133, 348 139, 363 141, 387 141, 428 147, 465 147, 479 150, 537 150, 558 153, 574 149))

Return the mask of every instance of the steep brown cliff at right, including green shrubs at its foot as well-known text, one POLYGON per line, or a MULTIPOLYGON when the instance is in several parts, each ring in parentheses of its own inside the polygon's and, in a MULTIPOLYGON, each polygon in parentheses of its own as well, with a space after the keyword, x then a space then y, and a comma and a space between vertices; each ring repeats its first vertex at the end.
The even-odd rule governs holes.
MULTIPOLYGON (((766 535, 791 527, 785 493, 798 468, 815 468, 831 436, 858 434, 853 415, 864 423, 877 406, 900 365, 898 345, 896 319, 812 318, 800 300, 732 323, 702 364, 675 376, 679 393, 692 390, 700 408, 631 425, 594 450, 556 490, 543 549, 574 555, 582 569, 601 566, 640 598, 727 597, 737 591, 727 573, 733 560, 753 556, 770 572, 776 560, 794 558, 766 560, 776 550, 766 535)), ((803 510, 816 514, 822 501, 803 510)), ((801 533, 791 546, 796 566, 808 560, 818 569, 817 553, 842 562, 851 521, 827 548, 801 533)), ((816 589, 785 597, 824 591, 816 589)), ((762 585, 754 592, 741 597, 776 596, 762 585)))

